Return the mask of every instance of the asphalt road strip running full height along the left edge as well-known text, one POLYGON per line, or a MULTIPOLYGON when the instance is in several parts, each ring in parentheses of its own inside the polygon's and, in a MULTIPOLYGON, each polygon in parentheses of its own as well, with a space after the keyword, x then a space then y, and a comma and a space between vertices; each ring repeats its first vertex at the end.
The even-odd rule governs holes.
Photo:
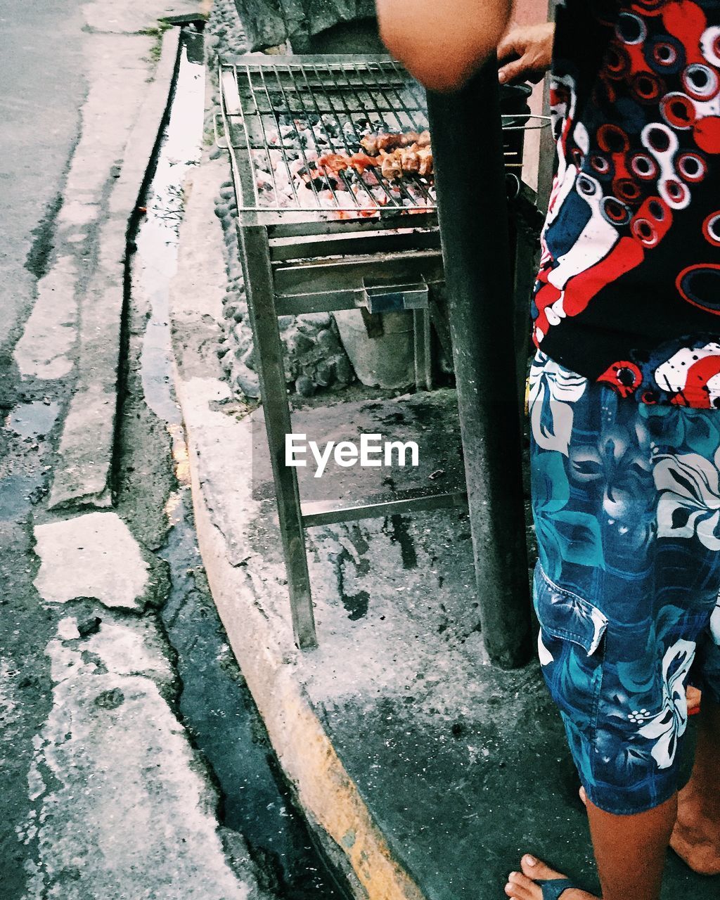
POLYGON ((0 5, 0 884, 24 895, 31 834, 32 738, 50 705, 45 646, 52 623, 31 581, 30 512, 47 478, 58 404, 23 396, 12 347, 42 275, 58 195, 85 97, 79 0, 0 5), (33 402, 34 401, 34 402, 33 402), (12 412, 9 412, 13 408, 12 412), (9 418, 8 418, 9 413, 9 418))

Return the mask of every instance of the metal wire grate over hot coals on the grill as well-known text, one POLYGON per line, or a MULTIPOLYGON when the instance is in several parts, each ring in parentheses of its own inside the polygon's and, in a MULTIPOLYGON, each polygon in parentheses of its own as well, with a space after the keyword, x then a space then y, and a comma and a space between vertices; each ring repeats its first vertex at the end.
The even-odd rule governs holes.
MULTIPOLYGON (((335 178, 319 172, 320 157, 350 157, 367 134, 428 129, 422 88, 392 58, 247 56, 220 65, 220 87, 241 211, 260 221, 434 211, 431 175, 389 178, 378 167, 362 174, 347 168, 335 178)), ((510 170, 522 166, 522 130, 534 119, 503 116, 510 170)))

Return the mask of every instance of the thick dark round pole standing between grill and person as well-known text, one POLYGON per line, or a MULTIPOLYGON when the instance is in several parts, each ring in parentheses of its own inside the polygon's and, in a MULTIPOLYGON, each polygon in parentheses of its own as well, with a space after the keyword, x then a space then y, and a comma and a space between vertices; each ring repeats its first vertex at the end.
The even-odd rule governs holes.
POLYGON ((530 656, 530 603, 498 69, 428 94, 482 634, 506 669, 530 656))

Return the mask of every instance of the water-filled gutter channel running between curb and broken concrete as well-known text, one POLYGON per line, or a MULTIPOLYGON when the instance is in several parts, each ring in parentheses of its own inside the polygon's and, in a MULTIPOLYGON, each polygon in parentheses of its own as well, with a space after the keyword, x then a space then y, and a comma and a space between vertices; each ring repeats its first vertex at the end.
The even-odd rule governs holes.
POLYGON ((341 900, 347 894, 335 884, 302 815, 293 807, 265 727, 229 650, 193 526, 168 317, 183 181, 200 158, 202 139, 204 69, 192 61, 198 58, 192 35, 186 34, 185 40, 166 140, 148 189, 147 216, 135 238, 132 266, 133 296, 149 310, 140 360, 142 387, 150 409, 166 422, 179 485, 166 505, 169 531, 158 552, 168 564, 171 580, 160 615, 177 653, 184 724, 220 788, 222 824, 244 836, 266 889, 290 900, 341 900))

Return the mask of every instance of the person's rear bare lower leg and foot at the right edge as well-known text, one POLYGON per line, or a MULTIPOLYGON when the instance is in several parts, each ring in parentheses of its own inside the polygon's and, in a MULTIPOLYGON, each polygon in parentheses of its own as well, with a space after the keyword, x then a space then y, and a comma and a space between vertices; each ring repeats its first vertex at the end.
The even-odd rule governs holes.
POLYGON ((695 766, 678 797, 678 822, 671 847, 690 869, 720 874, 720 706, 704 696, 698 716, 695 766))

